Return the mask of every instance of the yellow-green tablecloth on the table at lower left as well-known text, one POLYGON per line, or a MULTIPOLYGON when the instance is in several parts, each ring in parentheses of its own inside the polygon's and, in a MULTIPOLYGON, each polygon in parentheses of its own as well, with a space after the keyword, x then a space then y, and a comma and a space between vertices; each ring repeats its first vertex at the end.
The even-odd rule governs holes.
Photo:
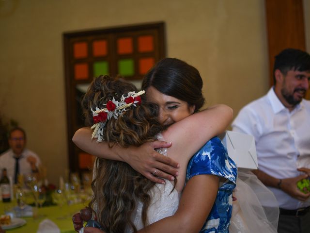
MULTIPOLYGON (((49 206, 38 208, 38 218, 23 217, 27 223, 19 228, 6 230, 7 233, 36 233, 41 221, 48 218, 53 221, 61 230, 61 233, 76 233, 73 228, 72 216, 80 209, 84 208, 83 204, 49 206)), ((0 202, 0 214, 3 214, 3 203, 0 202)))

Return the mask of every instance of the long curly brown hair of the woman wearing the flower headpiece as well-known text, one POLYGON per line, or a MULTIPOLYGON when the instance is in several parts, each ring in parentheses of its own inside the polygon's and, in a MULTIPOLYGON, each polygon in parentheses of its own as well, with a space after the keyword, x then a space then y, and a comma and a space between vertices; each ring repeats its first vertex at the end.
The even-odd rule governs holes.
MULTIPOLYGON (((83 112, 92 123, 92 109, 102 107, 113 97, 119 100, 123 94, 136 91, 136 87, 120 78, 99 76, 93 80, 82 100, 83 112)), ((142 98, 137 107, 131 107, 118 119, 112 117, 104 129, 104 140, 109 147, 116 143, 121 147, 139 147, 144 142, 155 140, 162 131, 157 120, 157 105, 142 98)), ((137 200, 143 203, 142 222, 147 222, 147 209, 151 197, 149 190, 155 185, 124 162, 97 158, 96 177, 92 183, 93 199, 90 207, 95 209, 98 221, 109 233, 124 233, 126 227, 137 232, 131 216, 137 207, 137 200)))

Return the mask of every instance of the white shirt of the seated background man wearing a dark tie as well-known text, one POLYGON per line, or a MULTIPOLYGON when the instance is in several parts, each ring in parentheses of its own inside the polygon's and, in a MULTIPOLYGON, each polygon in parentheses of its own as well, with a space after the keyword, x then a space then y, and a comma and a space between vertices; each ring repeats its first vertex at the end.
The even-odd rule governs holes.
MULTIPOLYGON (((7 176, 15 178, 15 154, 12 149, 9 149, 0 155, 0 171, 2 172, 3 168, 7 170, 7 176)), ((24 149, 21 157, 18 161, 19 163, 19 174, 24 176, 30 175, 32 173, 30 163, 27 162, 27 158, 33 156, 36 158, 36 166, 38 167, 41 164, 40 158, 34 152, 28 149, 24 149)))

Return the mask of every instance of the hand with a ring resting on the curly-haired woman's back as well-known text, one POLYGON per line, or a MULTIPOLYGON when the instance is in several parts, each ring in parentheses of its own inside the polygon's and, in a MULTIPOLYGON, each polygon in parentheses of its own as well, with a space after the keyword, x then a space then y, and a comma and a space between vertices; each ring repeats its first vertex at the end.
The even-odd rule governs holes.
POLYGON ((171 158, 155 151, 156 148, 169 148, 171 143, 164 141, 147 142, 140 147, 130 147, 124 162, 155 183, 164 183, 160 178, 174 180, 178 175, 179 164, 171 158))

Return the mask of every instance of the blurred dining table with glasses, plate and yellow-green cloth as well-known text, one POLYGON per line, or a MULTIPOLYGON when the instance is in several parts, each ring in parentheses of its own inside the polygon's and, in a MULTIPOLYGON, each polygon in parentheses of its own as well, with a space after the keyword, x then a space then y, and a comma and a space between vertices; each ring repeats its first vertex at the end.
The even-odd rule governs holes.
POLYGON ((1 228, 6 233, 75 233, 72 216, 88 206, 91 179, 81 183, 78 174, 72 173, 70 182, 60 177, 57 188, 35 177, 24 180, 23 186, 14 188, 10 202, 0 202, 1 228))

